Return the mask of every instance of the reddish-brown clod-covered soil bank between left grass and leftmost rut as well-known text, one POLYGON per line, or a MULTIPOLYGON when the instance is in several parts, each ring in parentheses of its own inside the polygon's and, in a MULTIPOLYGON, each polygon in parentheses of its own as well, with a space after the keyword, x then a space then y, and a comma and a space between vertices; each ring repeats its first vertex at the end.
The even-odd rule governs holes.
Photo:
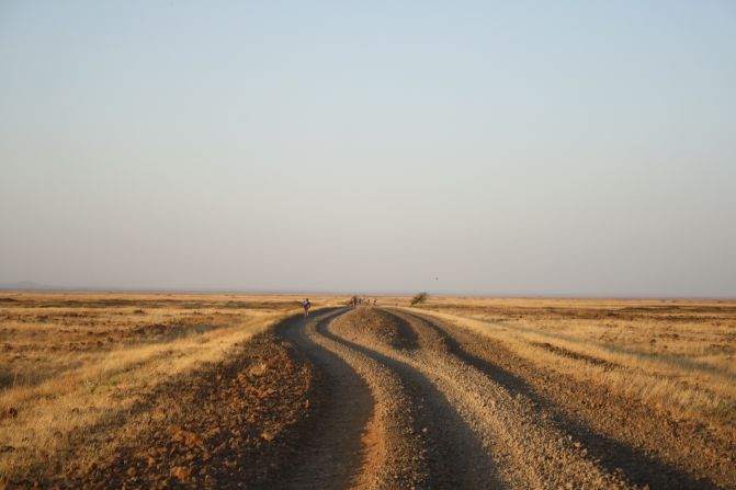
POLYGON ((274 334, 258 335, 230 361, 160 387, 144 403, 156 423, 133 444, 116 447, 112 458, 81 465, 72 456, 59 475, 36 483, 100 489, 272 485, 298 459, 318 378, 291 344, 274 334))

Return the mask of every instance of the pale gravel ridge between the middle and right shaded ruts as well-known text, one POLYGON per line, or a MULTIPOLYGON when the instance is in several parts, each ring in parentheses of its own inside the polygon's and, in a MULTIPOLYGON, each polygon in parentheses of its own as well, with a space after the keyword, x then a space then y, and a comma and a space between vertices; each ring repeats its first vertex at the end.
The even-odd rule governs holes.
MULTIPOLYGON (((395 318, 403 321, 398 315, 395 318)), ((452 354, 437 334, 415 330, 420 344, 416 351, 399 352, 375 342, 363 346, 430 379, 483 441, 508 487, 630 487, 625 479, 586 457, 585 449, 568 442, 550 421, 540 420, 523 399, 452 354)))

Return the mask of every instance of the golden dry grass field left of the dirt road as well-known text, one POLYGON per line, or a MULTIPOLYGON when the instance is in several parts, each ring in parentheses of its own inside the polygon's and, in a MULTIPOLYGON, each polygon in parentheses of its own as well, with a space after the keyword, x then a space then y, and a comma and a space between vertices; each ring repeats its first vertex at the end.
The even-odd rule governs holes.
POLYGON ((0 294, 0 488, 57 460, 77 434, 134 420, 157 386, 222 361, 301 299, 0 294))

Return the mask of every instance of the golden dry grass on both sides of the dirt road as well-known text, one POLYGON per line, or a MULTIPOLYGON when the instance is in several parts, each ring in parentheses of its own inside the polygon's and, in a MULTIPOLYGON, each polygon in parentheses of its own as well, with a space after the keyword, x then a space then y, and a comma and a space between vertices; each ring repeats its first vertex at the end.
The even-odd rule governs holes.
MULTIPOLYGON (((157 387, 226 361, 299 315, 301 299, 0 293, 0 488, 63 471, 72 447, 92 464, 105 457, 105 442, 134 441, 156 423, 146 400, 157 387), (86 454, 80 441, 97 444, 86 454)), ((310 299, 318 310, 348 297, 310 299)), ((541 371, 736 440, 736 301, 430 297, 409 308, 408 297, 378 296, 377 304, 463 327, 541 371)))

